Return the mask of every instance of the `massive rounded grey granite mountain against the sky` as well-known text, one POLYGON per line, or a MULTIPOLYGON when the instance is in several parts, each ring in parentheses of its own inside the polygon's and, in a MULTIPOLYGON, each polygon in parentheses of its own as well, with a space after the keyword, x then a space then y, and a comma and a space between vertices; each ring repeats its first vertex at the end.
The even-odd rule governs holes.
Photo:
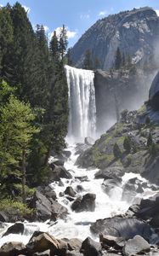
POLYGON ((154 54, 159 41, 159 17, 155 10, 145 7, 124 11, 98 20, 71 49, 71 61, 82 67, 86 51, 98 58, 100 68, 113 67, 116 49, 131 55, 133 62, 146 62, 154 54))

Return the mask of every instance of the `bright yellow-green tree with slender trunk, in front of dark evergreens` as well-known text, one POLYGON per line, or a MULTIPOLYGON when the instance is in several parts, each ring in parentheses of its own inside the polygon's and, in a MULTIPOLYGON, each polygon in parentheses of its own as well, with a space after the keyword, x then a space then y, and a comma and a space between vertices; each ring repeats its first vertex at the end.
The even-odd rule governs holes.
MULTIPOLYGON (((35 119, 29 104, 10 96, 9 102, 1 108, 1 181, 12 174, 20 177, 22 200, 26 202, 26 161, 30 154, 30 143, 37 128, 32 125, 35 119)), ((9 185, 9 184, 7 184, 9 185)))

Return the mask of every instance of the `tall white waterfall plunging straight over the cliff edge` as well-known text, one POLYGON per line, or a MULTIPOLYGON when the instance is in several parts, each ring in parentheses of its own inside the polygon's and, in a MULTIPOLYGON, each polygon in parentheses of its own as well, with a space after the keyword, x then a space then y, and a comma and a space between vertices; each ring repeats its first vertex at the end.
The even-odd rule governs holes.
POLYGON ((95 137, 96 106, 94 72, 65 66, 69 90, 68 137, 76 141, 84 137, 95 137))

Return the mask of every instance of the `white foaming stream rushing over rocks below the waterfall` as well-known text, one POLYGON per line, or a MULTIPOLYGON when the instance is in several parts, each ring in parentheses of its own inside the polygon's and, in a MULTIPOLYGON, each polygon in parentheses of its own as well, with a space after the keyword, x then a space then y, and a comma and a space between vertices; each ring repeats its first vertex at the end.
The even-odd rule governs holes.
MULTIPOLYGON (((0 246, 3 245, 6 241, 23 241, 25 244, 29 241, 31 235, 35 230, 47 231, 56 238, 81 238, 82 240, 88 236, 93 237, 98 241, 98 237, 94 237, 90 232, 90 224, 95 222, 99 218, 108 218, 113 217, 116 214, 124 213, 128 210, 128 207, 139 201, 139 198, 148 198, 150 195, 154 195, 156 192, 151 189, 145 189, 142 194, 133 196, 130 200, 128 197, 124 201, 122 200, 122 191, 124 184, 128 182, 130 178, 138 177, 141 182, 145 181, 144 178, 140 177, 139 174, 127 173, 122 177, 122 185, 111 189, 109 195, 105 193, 102 189, 101 184, 103 179, 94 179, 95 172, 98 172, 98 169, 82 169, 75 166, 75 161, 77 155, 75 154, 75 145, 70 145, 68 150, 71 150, 71 157, 65 162, 65 168, 70 170, 72 179, 68 180, 62 178, 63 186, 60 186, 59 182, 51 183, 54 191, 57 195, 57 201, 61 205, 68 208, 69 215, 65 220, 58 220, 56 222, 45 223, 25 223, 25 232, 21 235, 11 234, 9 236, 4 236, 0 239, 0 246), (87 181, 81 182, 78 177, 87 176, 87 181), (61 192, 63 193, 67 186, 71 186, 75 191, 77 191, 77 185, 82 185, 82 192, 77 193, 79 195, 85 195, 87 193, 94 193, 96 195, 95 200, 95 211, 94 212, 72 212, 71 204, 72 202, 67 200, 65 195, 60 196, 61 192)), ((5 229, 1 229, 1 236, 7 230, 11 224, 6 224, 5 229)))

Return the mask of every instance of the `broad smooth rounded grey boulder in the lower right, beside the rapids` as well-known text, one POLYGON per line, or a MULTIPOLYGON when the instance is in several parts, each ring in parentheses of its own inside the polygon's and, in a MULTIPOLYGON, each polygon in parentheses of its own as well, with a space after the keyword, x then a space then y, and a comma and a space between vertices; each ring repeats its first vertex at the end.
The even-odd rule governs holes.
POLYGON ((139 235, 150 241, 152 234, 149 224, 136 218, 124 217, 98 219, 94 224, 91 224, 90 230, 94 234, 102 233, 104 236, 122 237, 125 240, 139 235))

